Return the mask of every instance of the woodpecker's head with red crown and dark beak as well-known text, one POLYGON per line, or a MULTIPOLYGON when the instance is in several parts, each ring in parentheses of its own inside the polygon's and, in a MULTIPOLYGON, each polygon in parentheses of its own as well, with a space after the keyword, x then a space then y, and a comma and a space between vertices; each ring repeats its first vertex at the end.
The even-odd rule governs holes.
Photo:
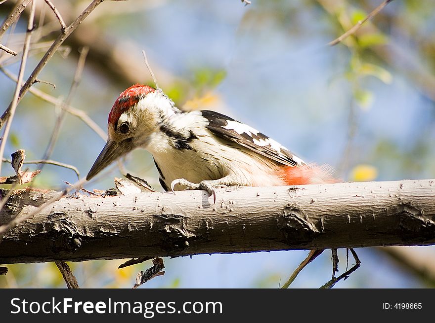
POLYGON ((137 147, 146 148, 162 118, 175 113, 174 103, 159 89, 136 84, 122 92, 109 113, 108 139, 86 179, 137 147))

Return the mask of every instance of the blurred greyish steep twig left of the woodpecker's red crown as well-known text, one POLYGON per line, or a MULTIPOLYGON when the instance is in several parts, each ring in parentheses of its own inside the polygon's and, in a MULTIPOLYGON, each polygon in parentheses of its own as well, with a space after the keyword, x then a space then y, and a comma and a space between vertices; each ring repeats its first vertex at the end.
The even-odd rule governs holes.
MULTIPOLYGON (((80 79, 82 77, 82 72, 83 72, 83 68, 85 66, 85 61, 86 61, 86 56, 87 56, 88 51, 89 51, 89 48, 85 47, 80 52, 80 57, 79 57, 79 61, 77 63, 77 69, 76 69, 76 72, 74 74, 74 79, 73 79, 73 82, 71 84, 71 88, 70 88, 70 91, 68 93, 68 97, 65 100, 65 105, 67 105, 67 106, 69 106, 71 104, 71 100, 74 97, 74 95, 76 93, 77 86, 80 83, 80 79)), ((51 153, 53 152, 54 145, 56 144, 57 139, 59 138, 60 129, 62 128, 62 123, 65 120, 65 112, 66 111, 64 109, 62 109, 62 111, 59 113, 59 115, 56 119, 56 123, 54 125, 54 129, 53 129, 53 132, 51 134, 50 141, 45 149, 44 157, 42 158, 43 160, 47 160, 48 158, 50 158, 51 153)), ((42 170, 43 166, 41 165, 41 166, 39 166, 39 168, 42 170)))

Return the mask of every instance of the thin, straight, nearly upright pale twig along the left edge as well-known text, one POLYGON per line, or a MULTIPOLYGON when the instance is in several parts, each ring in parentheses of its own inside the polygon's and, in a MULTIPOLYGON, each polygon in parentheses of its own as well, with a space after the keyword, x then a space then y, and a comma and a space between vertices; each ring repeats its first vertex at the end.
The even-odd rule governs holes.
MULTIPOLYGON (((6 146, 7 136, 9 135, 9 130, 10 130, 10 126, 12 124, 13 115, 15 113, 15 109, 16 109, 16 107, 18 105, 18 101, 19 101, 18 98, 19 98, 21 83, 23 82, 24 70, 26 68, 27 56, 29 54, 29 48, 30 48, 30 39, 32 37, 33 24, 34 24, 34 19, 35 19, 35 9, 36 9, 36 0, 32 2, 32 6, 31 6, 31 10, 30 10, 29 22, 27 24, 27 33, 26 33, 26 36, 24 39, 23 57, 21 59, 20 70, 18 72, 18 80, 17 80, 17 84, 15 87, 14 96, 13 96, 12 102, 10 104, 10 111, 8 113, 6 127, 4 128, 3 138, 1 139, 0 158, 3 158, 4 147, 6 146)), ((1 163, 0 163, 0 174, 1 174, 1 163)))

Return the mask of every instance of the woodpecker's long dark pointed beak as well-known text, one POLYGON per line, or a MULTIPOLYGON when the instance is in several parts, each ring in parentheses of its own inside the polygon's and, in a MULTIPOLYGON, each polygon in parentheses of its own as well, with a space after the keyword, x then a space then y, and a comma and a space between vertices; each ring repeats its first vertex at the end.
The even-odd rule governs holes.
POLYGON ((133 148, 131 138, 122 142, 115 142, 109 139, 93 163, 89 173, 87 173, 86 179, 89 180, 93 178, 113 161, 130 152, 133 148))

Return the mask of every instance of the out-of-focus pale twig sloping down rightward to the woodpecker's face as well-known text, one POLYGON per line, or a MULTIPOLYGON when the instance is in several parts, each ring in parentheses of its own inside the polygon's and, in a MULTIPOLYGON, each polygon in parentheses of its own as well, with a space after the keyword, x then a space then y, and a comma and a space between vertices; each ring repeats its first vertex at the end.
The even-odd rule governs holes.
MULTIPOLYGON (((11 80, 15 81, 17 80, 16 76, 3 68, 0 67, 0 71, 3 72, 7 77, 9 77, 11 80)), ((53 105, 59 104, 59 100, 56 97, 53 97, 52 95, 49 95, 37 88, 30 88, 29 92, 33 94, 34 96, 44 100, 45 102, 51 103, 53 105)), ((60 108, 64 109, 71 115, 74 115, 78 118, 80 118, 90 129, 92 129, 98 136, 100 136, 104 141, 107 140, 107 134, 106 132, 101 129, 88 115, 85 111, 80 110, 78 108, 74 108, 71 106, 67 106, 64 103, 59 104, 60 108)))

